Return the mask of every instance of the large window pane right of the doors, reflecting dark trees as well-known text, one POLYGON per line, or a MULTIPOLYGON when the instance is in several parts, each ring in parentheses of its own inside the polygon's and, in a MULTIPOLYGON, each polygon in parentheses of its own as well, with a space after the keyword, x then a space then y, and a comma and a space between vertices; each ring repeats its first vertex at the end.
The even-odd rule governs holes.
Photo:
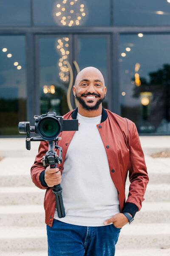
POLYGON ((122 116, 140 133, 170 132, 170 35, 120 36, 122 116))

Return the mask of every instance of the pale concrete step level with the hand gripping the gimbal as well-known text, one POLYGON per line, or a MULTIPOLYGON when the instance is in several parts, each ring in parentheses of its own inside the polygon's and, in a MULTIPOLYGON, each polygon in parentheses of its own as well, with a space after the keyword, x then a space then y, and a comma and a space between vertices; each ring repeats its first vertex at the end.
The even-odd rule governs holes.
MULTIPOLYGON (((6 157, 1 160, 0 186, 34 186, 30 175, 34 160, 35 157, 6 157)), ((170 158, 152 158, 146 155, 145 161, 150 184, 170 183, 170 158)))

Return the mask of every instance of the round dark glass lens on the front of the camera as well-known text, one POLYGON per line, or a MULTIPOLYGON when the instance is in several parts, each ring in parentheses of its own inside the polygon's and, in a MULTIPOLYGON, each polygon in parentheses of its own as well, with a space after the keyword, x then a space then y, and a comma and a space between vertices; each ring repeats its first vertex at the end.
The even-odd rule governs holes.
POLYGON ((44 140, 54 140, 60 132, 60 122, 55 117, 45 116, 38 123, 38 131, 44 140))

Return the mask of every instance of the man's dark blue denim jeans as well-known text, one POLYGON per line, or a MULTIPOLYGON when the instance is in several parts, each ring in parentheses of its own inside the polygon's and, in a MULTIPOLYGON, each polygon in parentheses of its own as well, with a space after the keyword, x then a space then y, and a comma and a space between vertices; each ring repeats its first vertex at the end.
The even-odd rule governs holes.
POLYGON ((54 219, 47 225, 48 256, 114 256, 119 233, 113 224, 85 227, 54 219))

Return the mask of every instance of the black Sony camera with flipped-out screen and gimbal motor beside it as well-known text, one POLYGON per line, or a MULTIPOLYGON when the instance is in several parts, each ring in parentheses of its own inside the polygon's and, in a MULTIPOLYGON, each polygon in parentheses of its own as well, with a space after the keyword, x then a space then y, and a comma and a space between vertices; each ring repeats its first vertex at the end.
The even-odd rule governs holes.
MULTIPOLYGON (((63 119, 62 116, 57 116, 56 112, 48 112, 43 115, 35 115, 35 126, 30 126, 30 122, 19 122, 19 132, 27 134, 27 141, 32 140, 55 140, 62 131, 77 131, 77 119, 63 119), (39 134, 40 137, 31 137, 31 132, 39 134), (30 138, 30 139, 29 139, 30 138), (37 138, 37 139, 36 139, 37 138)), ((30 143, 26 143, 26 148, 30 149, 30 143)))

